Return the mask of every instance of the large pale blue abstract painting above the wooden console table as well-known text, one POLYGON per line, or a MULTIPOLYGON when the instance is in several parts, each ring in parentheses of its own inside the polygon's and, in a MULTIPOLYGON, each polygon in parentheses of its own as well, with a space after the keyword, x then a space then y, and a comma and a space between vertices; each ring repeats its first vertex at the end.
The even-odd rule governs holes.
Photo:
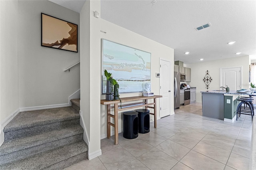
POLYGON ((105 69, 118 82, 119 93, 151 88, 151 53, 102 39, 102 94, 106 93, 105 69))

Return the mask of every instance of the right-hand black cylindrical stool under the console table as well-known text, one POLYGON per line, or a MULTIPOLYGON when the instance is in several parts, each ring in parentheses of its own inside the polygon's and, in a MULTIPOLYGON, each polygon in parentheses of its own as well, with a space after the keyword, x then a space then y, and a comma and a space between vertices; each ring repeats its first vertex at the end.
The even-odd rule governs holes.
POLYGON ((150 130, 150 119, 149 119, 149 110, 148 109, 138 109, 139 117, 139 133, 148 133, 150 130))

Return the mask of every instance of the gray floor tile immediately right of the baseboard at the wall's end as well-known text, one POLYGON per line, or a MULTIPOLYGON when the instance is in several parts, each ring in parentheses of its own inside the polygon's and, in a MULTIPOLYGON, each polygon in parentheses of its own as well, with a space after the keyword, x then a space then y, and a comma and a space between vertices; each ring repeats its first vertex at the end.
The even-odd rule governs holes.
POLYGON ((109 170, 116 170, 135 159, 127 150, 118 146, 98 156, 104 166, 109 170))

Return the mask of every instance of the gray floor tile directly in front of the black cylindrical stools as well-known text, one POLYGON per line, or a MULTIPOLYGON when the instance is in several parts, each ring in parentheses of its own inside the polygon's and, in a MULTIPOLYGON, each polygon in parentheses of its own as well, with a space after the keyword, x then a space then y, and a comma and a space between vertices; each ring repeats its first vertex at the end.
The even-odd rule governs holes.
POLYGON ((138 157, 153 148, 153 146, 140 139, 132 140, 122 146, 135 157, 138 157))

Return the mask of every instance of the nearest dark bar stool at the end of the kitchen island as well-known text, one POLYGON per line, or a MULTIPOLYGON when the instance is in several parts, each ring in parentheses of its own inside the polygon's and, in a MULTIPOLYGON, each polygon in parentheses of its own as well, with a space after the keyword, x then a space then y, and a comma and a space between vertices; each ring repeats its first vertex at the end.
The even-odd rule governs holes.
POLYGON ((254 108, 252 105, 252 100, 250 99, 238 99, 238 101, 240 101, 240 103, 237 106, 236 109, 236 120, 238 119, 238 117, 240 117, 241 114, 243 115, 251 115, 252 119, 254 116, 254 108))

